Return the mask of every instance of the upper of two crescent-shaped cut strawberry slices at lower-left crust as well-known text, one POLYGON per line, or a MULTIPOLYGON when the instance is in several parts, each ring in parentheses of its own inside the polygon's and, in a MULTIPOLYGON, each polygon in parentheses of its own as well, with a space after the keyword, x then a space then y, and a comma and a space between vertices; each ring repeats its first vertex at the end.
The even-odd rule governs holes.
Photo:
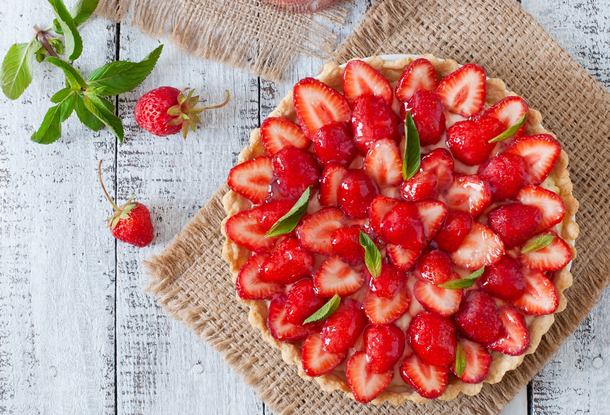
POLYGON ((242 266, 235 281, 237 295, 244 300, 270 300, 284 292, 284 285, 267 282, 260 277, 267 254, 254 254, 242 266))

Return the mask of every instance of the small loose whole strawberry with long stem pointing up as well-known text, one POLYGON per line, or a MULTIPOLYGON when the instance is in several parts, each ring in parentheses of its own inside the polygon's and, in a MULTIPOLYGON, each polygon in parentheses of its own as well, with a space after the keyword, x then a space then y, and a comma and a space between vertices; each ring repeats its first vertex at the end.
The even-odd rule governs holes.
POLYGON ((148 208, 143 204, 134 202, 134 196, 131 196, 129 200, 127 200, 127 203, 121 207, 118 207, 117 204, 110 199, 104 182, 102 182, 102 160, 99 160, 98 176, 104 194, 106 194, 110 204, 115 208, 114 215, 106 219, 112 236, 120 241, 138 247, 143 247, 151 243, 153 232, 151 213, 148 211, 148 208))

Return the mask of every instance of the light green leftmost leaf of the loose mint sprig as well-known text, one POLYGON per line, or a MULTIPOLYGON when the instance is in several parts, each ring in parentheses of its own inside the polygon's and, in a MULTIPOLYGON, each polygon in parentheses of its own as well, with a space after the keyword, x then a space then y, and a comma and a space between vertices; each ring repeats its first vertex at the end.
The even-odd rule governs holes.
POLYGON ((38 41, 15 43, 2 61, 2 92, 6 98, 17 99, 32 82, 32 56, 42 47, 38 41))

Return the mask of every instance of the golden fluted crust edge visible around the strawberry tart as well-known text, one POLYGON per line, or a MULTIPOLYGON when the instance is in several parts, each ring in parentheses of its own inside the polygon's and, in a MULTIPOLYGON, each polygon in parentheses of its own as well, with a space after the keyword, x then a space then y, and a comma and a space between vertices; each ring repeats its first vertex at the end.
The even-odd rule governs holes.
MULTIPOLYGON (((421 56, 410 56, 405 57, 403 59, 398 60, 385 60, 379 56, 368 57, 364 59, 360 59, 367 62, 369 65, 373 66, 373 68, 377 69, 383 76, 385 76, 392 86, 394 86, 398 79, 400 79, 401 74, 404 71, 409 63, 413 62, 415 59, 419 57, 423 57, 428 59, 434 69, 436 70, 437 75, 440 77, 445 77, 448 74, 452 73, 456 69, 459 68, 458 62, 454 60, 439 60, 433 55, 421 55, 421 56)), ((340 68, 334 63, 327 63, 320 75, 317 79, 320 79, 322 82, 325 82, 330 87, 335 90, 342 92, 343 86, 343 68, 340 68)), ((493 105, 505 98, 506 96, 517 95, 514 92, 509 92, 506 90, 506 85, 501 79, 490 78, 487 79, 487 96, 486 102, 489 105, 493 105)), ((298 122, 296 119, 296 112, 292 101, 292 91, 286 94, 284 99, 279 103, 278 107, 273 110, 268 116, 270 117, 283 117, 288 118, 292 121, 298 122)), ((526 125, 526 134, 527 135, 535 135, 548 133, 555 135, 552 132, 545 130, 540 121, 542 116, 540 112, 534 110, 533 108, 529 108, 528 120, 526 125)), ((242 152, 239 154, 238 163, 243 163, 244 161, 251 160, 254 157, 258 157, 262 155, 264 152, 264 146, 262 141, 260 140, 260 130, 255 129, 250 135, 250 145, 245 147, 242 152)), ((575 214, 578 210, 578 200, 572 196, 572 182, 570 181, 570 174, 567 171, 568 165, 568 156, 565 151, 561 151, 559 155, 559 159, 556 165, 551 171, 549 177, 550 180, 547 179, 547 183, 551 183, 551 188, 553 191, 559 194, 559 196, 564 200, 565 204, 565 218, 561 223, 561 237, 565 239, 565 241, 570 243, 570 249, 572 249, 572 258, 576 258, 576 249, 573 246, 573 241, 578 236, 578 224, 575 222, 575 214)), ((544 183, 543 183, 544 184, 544 183)), ((222 232, 226 237, 224 232, 224 223, 228 218, 239 213, 243 210, 248 210, 251 208, 251 202, 245 197, 240 196, 232 190, 229 190, 223 197, 223 205, 224 209, 227 211, 227 217, 222 222, 222 232)), ((237 274, 239 273, 240 268, 243 264, 246 263, 250 256, 250 251, 245 247, 241 247, 235 244, 231 239, 227 238, 224 246, 223 246, 223 258, 229 263, 233 282, 237 278, 237 274)), ((557 288, 559 293, 559 307, 556 313, 564 310, 567 300, 563 295, 563 291, 569 286, 572 285, 572 274, 570 274, 569 266, 561 269, 554 273, 553 283, 557 288)), ((248 321, 254 327, 260 330, 262 338, 265 339, 271 346, 276 347, 276 349, 281 350, 282 358, 287 364, 294 364, 298 369, 298 374, 300 377, 306 380, 315 379, 317 383, 320 385, 320 388, 326 392, 336 391, 337 389, 342 390, 349 397, 353 399, 353 395, 350 392, 350 388, 348 387, 348 383, 345 377, 339 377, 338 375, 331 372, 327 375, 322 375, 320 377, 309 377, 303 371, 303 367, 301 365, 301 349, 296 347, 295 345, 288 342, 279 342, 273 337, 267 328, 267 315, 268 315, 268 305, 264 300, 243 300, 235 295, 237 300, 250 308, 248 314, 248 321)), ((504 374, 507 371, 511 371, 519 366, 525 355, 529 353, 534 353, 536 348, 542 338, 542 335, 547 332, 547 330, 551 327, 554 321, 554 315, 550 314, 547 316, 526 316, 526 322, 529 330, 529 336, 531 339, 531 344, 526 350, 525 353, 521 356, 508 356, 503 353, 492 352, 492 363, 489 367, 489 374, 487 374, 484 382, 487 383, 497 383, 499 382, 504 374)), ((447 389, 445 392, 437 399, 441 400, 450 400, 454 399, 458 396, 459 392, 462 392, 466 395, 475 395, 481 388, 483 387, 483 383, 478 383, 476 385, 464 383, 458 378, 454 378, 449 381, 447 385, 447 389)), ((409 386, 406 386, 409 388, 409 386)), ((388 401, 393 403, 394 405, 400 405, 401 403, 406 402, 407 400, 411 400, 415 403, 425 403, 428 402, 428 399, 421 397, 417 392, 393 392, 393 391, 383 391, 381 394, 373 400, 371 403, 374 405, 381 405, 381 403, 388 401)))

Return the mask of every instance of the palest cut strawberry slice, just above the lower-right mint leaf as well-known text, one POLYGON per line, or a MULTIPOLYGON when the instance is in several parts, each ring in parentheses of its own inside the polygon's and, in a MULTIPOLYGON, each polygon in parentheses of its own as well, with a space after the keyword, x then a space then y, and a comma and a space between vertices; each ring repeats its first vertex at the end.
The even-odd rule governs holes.
POLYGON ((461 268, 476 271, 484 265, 497 263, 503 255, 504 243, 500 236, 479 222, 473 222, 464 242, 451 254, 451 260, 461 268))

